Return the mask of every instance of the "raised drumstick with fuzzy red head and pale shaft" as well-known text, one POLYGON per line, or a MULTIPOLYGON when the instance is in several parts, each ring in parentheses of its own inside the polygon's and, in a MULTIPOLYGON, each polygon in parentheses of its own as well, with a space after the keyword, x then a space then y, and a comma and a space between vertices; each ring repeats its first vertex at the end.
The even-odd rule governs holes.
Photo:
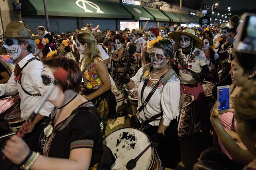
MULTIPOLYGON (((54 86, 50 86, 50 88, 47 90, 46 94, 43 95, 41 101, 39 102, 39 104, 37 105, 37 107, 34 109, 34 111, 30 114, 30 116, 28 117, 28 121, 30 120, 31 122, 33 122, 36 114, 39 112, 39 110, 41 109, 41 107, 44 105, 44 103, 47 101, 47 98, 49 97, 49 95, 53 92, 54 88, 56 87, 56 85, 58 84, 58 82, 64 82, 67 79, 68 73, 65 69, 58 67, 55 72, 54 72, 54 86)), ((17 133, 17 135, 19 137, 24 137, 25 134, 23 134, 21 131, 19 131, 17 133)))

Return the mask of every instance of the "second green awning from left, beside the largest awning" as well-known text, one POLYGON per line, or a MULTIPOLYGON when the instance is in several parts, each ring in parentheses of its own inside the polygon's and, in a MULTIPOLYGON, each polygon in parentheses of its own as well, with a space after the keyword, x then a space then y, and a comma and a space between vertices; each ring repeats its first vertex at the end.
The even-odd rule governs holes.
POLYGON ((150 20, 153 21, 154 17, 150 15, 143 7, 128 4, 122 4, 132 15, 135 20, 150 20))

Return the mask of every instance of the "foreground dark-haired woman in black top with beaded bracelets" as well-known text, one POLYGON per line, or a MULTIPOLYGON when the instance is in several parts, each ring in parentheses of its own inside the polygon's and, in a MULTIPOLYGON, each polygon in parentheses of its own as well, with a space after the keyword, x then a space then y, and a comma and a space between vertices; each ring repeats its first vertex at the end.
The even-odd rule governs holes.
POLYGON ((55 107, 41 134, 41 153, 30 151, 16 135, 7 141, 3 153, 27 170, 96 169, 102 149, 100 117, 91 101, 78 94, 81 69, 74 60, 56 54, 43 63, 42 86, 54 86, 53 73, 57 67, 67 70, 68 77, 48 97, 55 107))

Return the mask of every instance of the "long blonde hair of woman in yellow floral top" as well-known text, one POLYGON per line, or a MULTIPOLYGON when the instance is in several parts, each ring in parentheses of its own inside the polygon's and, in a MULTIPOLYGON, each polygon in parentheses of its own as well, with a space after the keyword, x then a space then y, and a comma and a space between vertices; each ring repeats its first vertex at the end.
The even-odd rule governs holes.
POLYGON ((95 56, 101 57, 101 52, 97 47, 97 42, 94 36, 89 32, 79 32, 76 34, 76 39, 80 44, 87 43, 87 48, 83 51, 84 57, 82 58, 82 69, 91 62, 94 61, 95 56))

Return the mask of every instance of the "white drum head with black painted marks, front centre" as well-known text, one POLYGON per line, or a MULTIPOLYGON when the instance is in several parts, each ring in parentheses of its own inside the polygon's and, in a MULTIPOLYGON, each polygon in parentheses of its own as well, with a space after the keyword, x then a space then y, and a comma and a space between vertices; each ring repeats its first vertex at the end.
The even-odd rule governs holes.
MULTIPOLYGON (((103 141, 113 152, 116 161, 112 170, 126 170, 126 164, 130 159, 137 157, 149 144, 146 133, 135 128, 122 128, 110 133, 103 141)), ((148 170, 153 161, 153 149, 151 147, 140 157, 135 170, 148 170)))

